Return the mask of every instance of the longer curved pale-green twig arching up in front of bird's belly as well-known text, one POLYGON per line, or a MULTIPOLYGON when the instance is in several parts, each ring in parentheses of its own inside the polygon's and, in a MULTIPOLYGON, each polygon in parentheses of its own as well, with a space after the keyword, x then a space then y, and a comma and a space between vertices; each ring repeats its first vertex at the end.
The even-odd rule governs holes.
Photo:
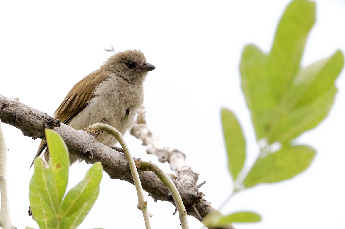
POLYGON ((93 130, 96 130, 97 132, 105 131, 108 134, 111 134, 112 136, 114 136, 119 141, 120 145, 122 146, 122 148, 125 152, 125 155, 126 155, 126 158, 127 158, 128 164, 129 164, 129 168, 130 168, 130 171, 132 173, 134 185, 135 185, 136 190, 137 190, 137 195, 138 195, 137 208, 142 211, 142 215, 144 216, 146 229, 151 229, 151 223, 150 223, 151 213, 149 212, 149 210, 147 208, 147 201, 145 201, 144 193, 142 192, 143 190, 142 190, 139 174, 137 171, 137 167, 134 163, 134 159, 133 159, 133 157, 129 151, 129 148, 128 148, 124 138, 122 137, 120 131, 118 131, 117 129, 115 129, 112 126, 109 126, 105 123, 100 123, 100 122, 91 125, 86 130, 87 131, 91 130, 91 132, 93 130))

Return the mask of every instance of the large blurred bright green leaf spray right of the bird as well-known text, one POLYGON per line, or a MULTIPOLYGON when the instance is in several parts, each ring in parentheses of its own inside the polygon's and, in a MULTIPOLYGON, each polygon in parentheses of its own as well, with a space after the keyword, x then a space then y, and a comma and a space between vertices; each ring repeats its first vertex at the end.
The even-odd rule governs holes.
MULTIPOLYGON (((265 54, 255 45, 246 45, 243 49, 242 90, 261 148, 250 170, 244 171, 243 131, 233 112, 223 108, 221 120, 234 193, 257 184, 292 178, 313 161, 315 149, 292 146, 291 140, 316 127, 328 115, 337 92, 334 81, 344 65, 342 52, 336 51, 305 68, 300 66, 314 22, 315 3, 294 0, 279 21, 270 53, 265 54), (273 150, 272 144, 280 148, 273 150)), ((225 217, 218 213, 205 222, 220 226, 260 219, 252 212, 237 212, 225 217)))

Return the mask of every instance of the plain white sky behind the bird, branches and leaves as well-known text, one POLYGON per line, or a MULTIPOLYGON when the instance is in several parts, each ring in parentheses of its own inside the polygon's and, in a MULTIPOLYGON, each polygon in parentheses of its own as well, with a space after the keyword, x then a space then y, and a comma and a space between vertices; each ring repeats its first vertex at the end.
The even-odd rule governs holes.
MULTIPOLYGON (((233 110, 247 141, 249 167, 258 153, 250 114, 240 89, 239 60, 245 44, 268 52, 288 0, 243 1, 1 1, 0 94, 53 115, 72 86, 99 68, 116 51, 140 49, 156 66, 145 82, 147 122, 165 146, 187 155, 186 164, 207 181, 200 191, 217 208, 230 193, 220 108, 233 110)), ((303 66, 345 51, 345 1, 318 0, 317 21, 303 56, 303 66)), ((318 153, 310 168, 292 180, 262 184, 237 195, 222 210, 260 213, 254 224, 237 229, 344 228, 344 71, 329 116, 298 138, 318 153)), ((28 170, 40 140, 4 124, 9 148, 9 191, 12 222, 18 228, 36 222, 28 217, 28 170)), ((125 139, 134 157, 152 161, 133 136, 125 139)), ((70 170, 69 188, 90 165, 70 170)), ((153 228, 180 228, 171 203, 147 197, 153 228)), ((136 209, 135 187, 110 180, 104 173, 94 208, 79 227, 145 228, 136 209)), ((201 223, 188 217, 190 228, 201 223)))

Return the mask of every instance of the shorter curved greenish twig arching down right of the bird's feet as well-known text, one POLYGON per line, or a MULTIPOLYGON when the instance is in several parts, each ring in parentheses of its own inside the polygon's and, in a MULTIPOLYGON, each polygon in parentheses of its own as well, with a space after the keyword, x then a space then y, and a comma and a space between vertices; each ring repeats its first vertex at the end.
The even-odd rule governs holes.
POLYGON ((180 217, 181 227, 182 229, 188 229, 187 211, 185 205, 183 204, 180 193, 177 191, 176 186, 170 177, 163 170, 161 170, 161 168, 151 162, 139 161, 137 162, 137 166, 141 170, 154 172, 158 176, 159 180, 168 188, 168 190, 171 192, 172 198, 174 198, 178 215, 180 217))

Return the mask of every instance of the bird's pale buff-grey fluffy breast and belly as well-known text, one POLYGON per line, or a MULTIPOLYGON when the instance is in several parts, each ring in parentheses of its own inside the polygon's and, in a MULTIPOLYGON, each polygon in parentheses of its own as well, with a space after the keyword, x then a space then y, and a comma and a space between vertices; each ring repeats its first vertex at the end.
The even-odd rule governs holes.
MULTIPOLYGON (((93 97, 69 126, 84 129, 101 120, 115 127, 122 135, 133 125, 136 113, 144 102, 142 85, 131 86, 103 82, 97 86, 93 97)), ((101 143, 115 146, 117 140, 109 134, 100 134, 97 138, 101 143)))

